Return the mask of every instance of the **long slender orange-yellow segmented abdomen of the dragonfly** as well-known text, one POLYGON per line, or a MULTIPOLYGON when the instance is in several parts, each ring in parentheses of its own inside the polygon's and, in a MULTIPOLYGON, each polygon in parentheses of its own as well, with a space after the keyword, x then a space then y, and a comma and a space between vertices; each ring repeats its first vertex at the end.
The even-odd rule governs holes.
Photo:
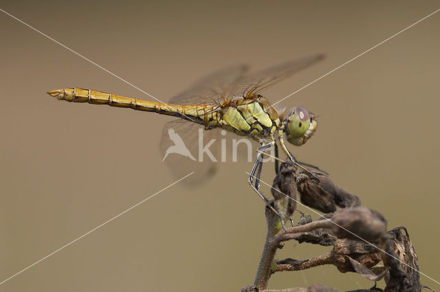
POLYGON ((217 121, 215 106, 210 104, 197 105, 178 105, 166 104, 163 102, 151 102, 148 100, 139 100, 117 94, 96 91, 91 89, 65 88, 48 91, 50 96, 58 100, 67 102, 88 102, 89 104, 108 104, 109 106, 126 107, 137 111, 153 111, 162 115, 173 115, 186 120, 192 120, 199 124, 206 124, 210 121, 214 124, 217 121))

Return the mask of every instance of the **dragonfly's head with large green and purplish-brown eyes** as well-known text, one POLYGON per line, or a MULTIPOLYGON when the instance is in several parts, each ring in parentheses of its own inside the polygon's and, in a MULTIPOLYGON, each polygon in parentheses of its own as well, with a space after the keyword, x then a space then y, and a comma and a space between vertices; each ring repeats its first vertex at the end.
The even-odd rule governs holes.
POLYGON ((309 114, 303 106, 295 106, 292 112, 284 120, 287 141, 301 146, 314 135, 318 123, 314 116, 309 114))

